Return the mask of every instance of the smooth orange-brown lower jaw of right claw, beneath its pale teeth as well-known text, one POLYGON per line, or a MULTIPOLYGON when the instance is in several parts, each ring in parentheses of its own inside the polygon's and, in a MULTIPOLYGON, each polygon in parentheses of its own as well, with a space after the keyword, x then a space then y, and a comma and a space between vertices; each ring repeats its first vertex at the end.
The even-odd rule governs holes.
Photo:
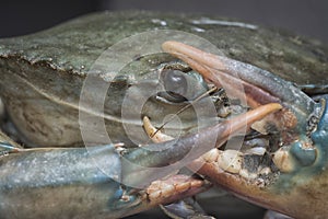
MULTIPOLYGON (((318 148, 318 159, 309 166, 297 166, 300 170, 291 173, 281 173, 272 185, 261 185, 260 182, 247 181, 239 175, 223 172, 215 162, 206 161, 198 173, 207 175, 212 182, 218 183, 238 197, 261 205, 266 208, 286 214, 293 218, 327 218, 328 200, 328 153, 327 135, 327 107, 318 125, 318 130, 313 134, 314 143, 318 148)), ((191 163, 198 166, 199 159, 191 163)))

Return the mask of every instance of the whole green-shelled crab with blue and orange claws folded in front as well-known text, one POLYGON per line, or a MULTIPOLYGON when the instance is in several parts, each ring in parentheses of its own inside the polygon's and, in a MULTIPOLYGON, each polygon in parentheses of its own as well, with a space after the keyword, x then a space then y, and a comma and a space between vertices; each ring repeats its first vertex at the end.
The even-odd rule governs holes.
POLYGON ((93 14, 2 39, 0 95, 7 116, 0 135, 0 216, 118 218, 214 183, 291 217, 324 218, 326 62, 325 47, 290 34, 216 18, 150 12, 93 14), (120 73, 102 71, 103 64, 92 71, 96 58, 117 41, 159 28, 191 32, 222 54, 163 42, 167 54, 142 56, 126 44, 133 59, 120 73), (108 84, 104 112, 92 108, 95 94, 87 96, 91 104, 81 105, 90 74, 99 87, 108 84), (224 93, 246 101, 227 102, 224 93), (133 112, 140 96, 145 102, 133 112), (209 103, 215 117, 204 114, 198 127, 190 105, 206 112, 209 103), (124 106, 130 106, 126 116, 136 115, 122 119, 124 106), (97 135, 96 124, 81 124, 81 112, 105 120, 110 142, 97 135), (168 114, 178 115, 181 126, 174 118, 163 125, 168 114), (155 143, 143 130, 143 125, 150 127, 145 116, 157 127, 151 135, 160 136, 155 143), (94 138, 86 142, 81 127, 89 127, 94 138), (244 148, 223 150, 241 130, 246 131, 244 148), (176 175, 184 166, 197 176, 176 175))

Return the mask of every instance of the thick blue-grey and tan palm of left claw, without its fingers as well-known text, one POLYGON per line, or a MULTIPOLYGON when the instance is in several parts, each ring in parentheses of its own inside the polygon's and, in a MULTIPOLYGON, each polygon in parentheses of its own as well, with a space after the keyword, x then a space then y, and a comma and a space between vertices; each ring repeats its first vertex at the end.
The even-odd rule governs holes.
MULTIPOLYGON (((116 168, 108 174, 118 178, 119 160, 110 155, 113 151, 113 147, 99 147, 93 154, 104 166, 112 158, 110 164, 116 168)), ((90 153, 83 148, 26 151, 1 158, 0 163, 1 218, 66 218, 74 210, 81 217, 105 218, 110 209, 106 204, 115 196, 119 200, 120 185, 90 162, 90 153), (56 201, 62 198, 80 201, 56 201)))

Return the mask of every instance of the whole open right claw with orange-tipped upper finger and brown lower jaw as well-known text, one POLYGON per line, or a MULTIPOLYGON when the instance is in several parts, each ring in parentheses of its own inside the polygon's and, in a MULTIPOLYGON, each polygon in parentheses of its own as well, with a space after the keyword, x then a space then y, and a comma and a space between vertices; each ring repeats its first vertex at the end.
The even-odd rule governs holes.
MULTIPOLYGON (((316 103, 291 82, 248 64, 208 54, 178 42, 166 42, 162 47, 208 81, 223 87, 227 94, 245 99, 250 107, 272 102, 284 107, 262 124, 266 131, 272 132, 272 127, 276 131, 273 140, 270 140, 271 155, 265 158, 273 161, 266 169, 270 174, 258 172, 254 177, 243 177, 241 175, 247 175, 244 172, 227 173, 218 168, 218 159, 209 161, 200 172, 245 199, 267 208, 295 218, 327 217, 326 100, 316 103), (243 90, 238 89, 241 87, 243 90)), ((242 157, 244 170, 254 168, 249 166, 256 163, 256 159, 251 158, 254 155, 242 157)))

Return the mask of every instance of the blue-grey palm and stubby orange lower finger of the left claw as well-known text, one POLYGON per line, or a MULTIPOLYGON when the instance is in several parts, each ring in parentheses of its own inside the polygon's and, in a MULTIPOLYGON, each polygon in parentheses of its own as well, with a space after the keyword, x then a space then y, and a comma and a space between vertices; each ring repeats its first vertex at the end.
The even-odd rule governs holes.
POLYGON ((209 187, 178 175, 130 194, 113 146, 31 149, 0 157, 0 218, 121 218, 209 187))

